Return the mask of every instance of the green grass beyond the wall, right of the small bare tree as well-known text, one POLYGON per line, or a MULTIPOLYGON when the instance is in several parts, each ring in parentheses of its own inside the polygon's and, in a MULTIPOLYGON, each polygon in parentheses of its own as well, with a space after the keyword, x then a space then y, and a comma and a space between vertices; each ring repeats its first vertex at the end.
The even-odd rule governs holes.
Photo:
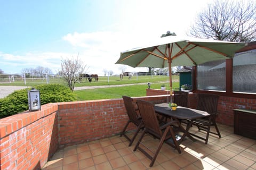
MULTIPOLYGON (((173 75, 172 77, 172 86, 173 89, 179 88, 179 76, 173 75)), ((123 95, 131 97, 146 96, 146 89, 148 88, 147 83, 151 82, 151 89, 160 89, 161 84, 165 84, 166 89, 170 89, 169 86, 169 77, 153 77, 151 76, 141 76, 138 77, 138 80, 133 77, 133 80, 122 80, 119 78, 109 82, 109 85, 116 84, 131 84, 131 86, 123 87, 109 87, 109 88, 99 88, 99 89, 86 89, 86 90, 76 90, 74 94, 77 96, 77 100, 93 100, 93 99, 112 99, 112 98, 121 98, 123 95), (144 84, 143 84, 144 83, 144 84)), ((100 82, 91 82, 86 84, 98 84, 100 82)), ((83 83, 82 83, 83 84, 83 83)), ((79 84, 79 85, 82 85, 79 84)), ((104 84, 102 84, 104 85, 104 84)), ((105 84, 106 85, 106 84, 105 84)), ((92 85, 93 86, 93 85, 92 85)), ((95 86, 95 85, 94 85, 95 86)))

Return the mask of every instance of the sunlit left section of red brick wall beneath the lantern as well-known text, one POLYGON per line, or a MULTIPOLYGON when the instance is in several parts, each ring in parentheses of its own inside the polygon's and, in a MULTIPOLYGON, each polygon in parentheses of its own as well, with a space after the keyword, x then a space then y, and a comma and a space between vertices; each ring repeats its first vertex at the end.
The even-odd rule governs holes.
POLYGON ((57 104, 0 120, 0 169, 39 169, 58 149, 57 104))

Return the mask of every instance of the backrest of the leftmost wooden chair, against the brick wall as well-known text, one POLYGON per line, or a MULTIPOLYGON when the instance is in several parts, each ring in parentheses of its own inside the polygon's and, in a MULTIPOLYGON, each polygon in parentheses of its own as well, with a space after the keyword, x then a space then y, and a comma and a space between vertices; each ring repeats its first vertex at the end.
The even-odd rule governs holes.
POLYGON ((123 100, 124 100, 124 106, 126 109, 126 113, 129 117, 129 119, 134 123, 139 122, 138 114, 136 112, 137 104, 133 101, 133 99, 131 97, 128 97, 128 96, 123 96, 123 100))

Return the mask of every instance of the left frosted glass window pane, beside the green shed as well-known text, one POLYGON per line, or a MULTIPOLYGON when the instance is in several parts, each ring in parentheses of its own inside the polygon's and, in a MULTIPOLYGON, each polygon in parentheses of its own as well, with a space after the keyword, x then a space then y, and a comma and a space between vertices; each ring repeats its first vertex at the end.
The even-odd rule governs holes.
POLYGON ((226 60, 198 65, 197 89, 226 91, 226 60))

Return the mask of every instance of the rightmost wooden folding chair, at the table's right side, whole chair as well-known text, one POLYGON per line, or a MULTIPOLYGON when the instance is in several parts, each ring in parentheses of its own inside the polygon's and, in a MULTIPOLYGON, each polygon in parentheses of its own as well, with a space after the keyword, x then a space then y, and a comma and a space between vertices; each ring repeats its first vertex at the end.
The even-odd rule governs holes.
POLYGON ((206 131, 206 137, 204 138, 194 133, 190 133, 190 134, 193 135, 194 137, 204 140, 205 144, 208 143, 210 133, 218 135, 219 138, 221 138, 220 131, 215 121, 216 116, 218 115, 217 114, 218 98, 219 96, 217 95, 198 94, 197 109, 200 111, 208 112, 210 116, 193 120, 193 124, 197 126, 198 131, 200 130, 206 131), (216 132, 211 131, 211 126, 215 127, 216 132))

